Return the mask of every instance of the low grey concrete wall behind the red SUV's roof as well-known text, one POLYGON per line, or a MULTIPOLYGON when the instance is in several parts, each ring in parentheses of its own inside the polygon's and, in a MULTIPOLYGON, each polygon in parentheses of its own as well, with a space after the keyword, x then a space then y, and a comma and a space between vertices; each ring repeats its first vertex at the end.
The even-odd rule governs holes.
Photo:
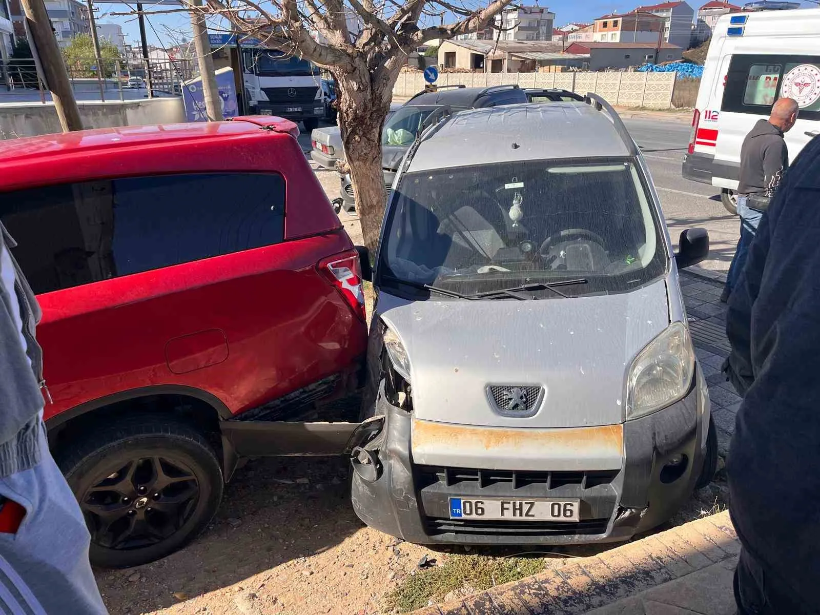
MULTIPOLYGON (((152 98, 114 103, 78 103, 85 128, 110 128, 185 121, 181 98, 152 98)), ((61 132, 53 103, 0 105, 0 139, 61 132)))

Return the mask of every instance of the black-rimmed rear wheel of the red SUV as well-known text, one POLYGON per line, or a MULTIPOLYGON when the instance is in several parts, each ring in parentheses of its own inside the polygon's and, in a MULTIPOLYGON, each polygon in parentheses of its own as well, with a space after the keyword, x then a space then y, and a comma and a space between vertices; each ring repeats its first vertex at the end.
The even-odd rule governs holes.
POLYGON ((139 566, 174 553, 205 529, 222 499, 214 449, 171 417, 112 422, 56 457, 89 527, 94 566, 139 566))

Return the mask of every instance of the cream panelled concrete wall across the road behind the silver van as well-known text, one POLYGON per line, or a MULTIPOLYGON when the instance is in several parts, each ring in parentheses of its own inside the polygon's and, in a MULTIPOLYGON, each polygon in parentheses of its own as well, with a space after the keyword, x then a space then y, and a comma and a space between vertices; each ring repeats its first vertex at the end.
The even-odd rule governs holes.
MULTIPOLYGON (((522 88, 560 88, 593 92, 621 107, 668 109, 672 106, 675 73, 572 72, 572 73, 444 73, 438 85, 464 84, 468 88, 517 84, 522 88)), ((408 97, 424 89, 420 72, 399 74, 394 96, 408 97)))

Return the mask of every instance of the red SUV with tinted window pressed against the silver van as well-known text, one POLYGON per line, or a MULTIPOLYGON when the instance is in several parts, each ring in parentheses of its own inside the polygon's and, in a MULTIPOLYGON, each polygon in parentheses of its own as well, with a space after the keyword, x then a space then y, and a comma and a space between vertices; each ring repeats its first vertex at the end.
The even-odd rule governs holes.
MULTIPOLYGON (((0 219, 43 307, 52 452, 106 567, 191 540, 250 455, 340 453, 358 253, 276 117, 0 142, 0 219)), ((347 420, 346 420, 347 419, 347 420)))

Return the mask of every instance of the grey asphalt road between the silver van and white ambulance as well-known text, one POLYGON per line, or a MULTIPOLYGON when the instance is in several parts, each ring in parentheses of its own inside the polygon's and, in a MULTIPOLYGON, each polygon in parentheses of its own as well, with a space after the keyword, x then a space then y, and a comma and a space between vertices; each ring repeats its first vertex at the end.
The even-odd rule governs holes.
POLYGON ((740 221, 723 208, 719 189, 681 176, 681 163, 689 143, 689 121, 652 116, 624 118, 624 123, 649 164, 672 243, 677 244, 684 229, 705 228, 711 248, 708 260, 701 266, 726 273, 735 253, 740 221))

